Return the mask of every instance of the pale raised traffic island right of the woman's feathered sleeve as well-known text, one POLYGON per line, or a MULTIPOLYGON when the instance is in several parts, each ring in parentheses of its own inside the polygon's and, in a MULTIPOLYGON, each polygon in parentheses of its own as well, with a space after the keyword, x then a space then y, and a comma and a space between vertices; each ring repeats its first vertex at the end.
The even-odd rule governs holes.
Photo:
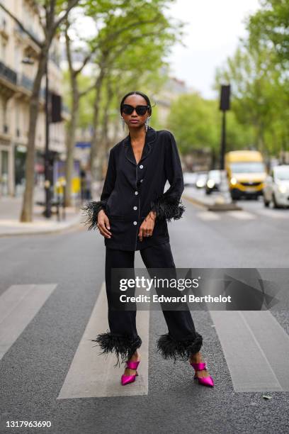
POLYGON ((196 187, 185 187, 183 190, 183 198, 191 201, 193 204, 202 206, 208 211, 241 211, 242 207, 237 204, 224 204, 222 196, 217 191, 211 194, 205 194, 204 189, 196 187))

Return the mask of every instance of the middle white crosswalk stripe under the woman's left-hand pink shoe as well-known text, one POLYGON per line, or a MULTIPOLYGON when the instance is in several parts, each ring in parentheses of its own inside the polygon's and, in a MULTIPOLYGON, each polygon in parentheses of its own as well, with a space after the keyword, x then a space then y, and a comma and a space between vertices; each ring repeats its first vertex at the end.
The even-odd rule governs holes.
POLYGON ((114 367, 115 354, 99 355, 101 348, 91 339, 108 327, 106 284, 103 282, 94 310, 57 399, 135 396, 148 394, 149 311, 137 311, 137 332, 142 338, 142 361, 133 384, 122 386, 124 364, 114 367))

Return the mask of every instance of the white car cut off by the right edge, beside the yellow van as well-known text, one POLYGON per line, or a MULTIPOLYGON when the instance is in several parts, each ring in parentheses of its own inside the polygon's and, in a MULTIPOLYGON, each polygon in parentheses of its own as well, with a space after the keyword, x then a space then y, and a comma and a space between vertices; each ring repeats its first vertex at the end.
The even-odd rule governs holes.
POLYGON ((263 201, 265 206, 272 202, 274 208, 289 206, 289 165, 273 167, 265 180, 263 201))

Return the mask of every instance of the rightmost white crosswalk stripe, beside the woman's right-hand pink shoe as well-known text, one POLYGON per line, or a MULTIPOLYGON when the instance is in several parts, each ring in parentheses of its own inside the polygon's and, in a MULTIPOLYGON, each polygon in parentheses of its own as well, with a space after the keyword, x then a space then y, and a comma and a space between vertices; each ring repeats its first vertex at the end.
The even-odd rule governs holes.
POLYGON ((289 336, 270 311, 210 311, 234 391, 289 391, 289 336))

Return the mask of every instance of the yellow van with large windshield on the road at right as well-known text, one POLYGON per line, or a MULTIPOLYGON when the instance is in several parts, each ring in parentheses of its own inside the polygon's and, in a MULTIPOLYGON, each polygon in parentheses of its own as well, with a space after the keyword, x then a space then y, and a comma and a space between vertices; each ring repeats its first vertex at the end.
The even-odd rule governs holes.
POLYGON ((225 169, 232 199, 241 196, 257 197, 263 194, 266 166, 261 152, 238 150, 227 152, 225 169))

